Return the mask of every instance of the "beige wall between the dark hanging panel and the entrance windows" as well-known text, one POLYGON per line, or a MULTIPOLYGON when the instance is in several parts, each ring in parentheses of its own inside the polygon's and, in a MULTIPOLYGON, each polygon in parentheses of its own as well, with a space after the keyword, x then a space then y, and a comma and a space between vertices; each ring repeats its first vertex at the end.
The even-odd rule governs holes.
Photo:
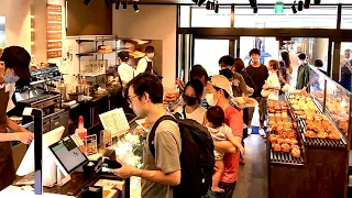
POLYGON ((172 87, 176 77, 176 6, 139 8, 139 13, 131 6, 127 10, 120 7, 120 10, 113 11, 113 34, 119 37, 163 40, 163 84, 172 87))

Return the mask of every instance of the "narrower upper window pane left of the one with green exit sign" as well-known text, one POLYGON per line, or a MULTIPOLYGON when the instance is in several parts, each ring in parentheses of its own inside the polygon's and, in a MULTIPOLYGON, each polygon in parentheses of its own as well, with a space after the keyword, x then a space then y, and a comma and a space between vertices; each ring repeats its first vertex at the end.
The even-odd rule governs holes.
POLYGON ((191 7, 191 28, 230 28, 231 8, 220 7, 219 13, 205 7, 191 7))

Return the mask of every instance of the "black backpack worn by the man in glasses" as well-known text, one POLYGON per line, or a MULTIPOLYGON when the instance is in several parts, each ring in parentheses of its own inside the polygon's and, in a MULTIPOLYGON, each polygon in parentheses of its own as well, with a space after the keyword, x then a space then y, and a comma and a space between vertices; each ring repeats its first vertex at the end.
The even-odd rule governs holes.
POLYGON ((173 187, 174 197, 201 197, 212 184, 215 168, 213 142, 208 129, 195 120, 180 120, 177 114, 163 116, 153 125, 148 146, 155 158, 154 138, 157 125, 164 120, 172 120, 179 127, 182 152, 179 155, 182 178, 178 186, 173 187))

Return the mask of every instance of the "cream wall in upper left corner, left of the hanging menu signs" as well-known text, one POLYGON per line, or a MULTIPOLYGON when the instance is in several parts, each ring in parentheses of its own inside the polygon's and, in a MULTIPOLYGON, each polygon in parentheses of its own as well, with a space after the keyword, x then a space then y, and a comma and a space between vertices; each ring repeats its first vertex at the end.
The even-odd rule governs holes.
POLYGON ((20 45, 31 52, 31 1, 0 0, 0 15, 6 16, 6 45, 20 45))

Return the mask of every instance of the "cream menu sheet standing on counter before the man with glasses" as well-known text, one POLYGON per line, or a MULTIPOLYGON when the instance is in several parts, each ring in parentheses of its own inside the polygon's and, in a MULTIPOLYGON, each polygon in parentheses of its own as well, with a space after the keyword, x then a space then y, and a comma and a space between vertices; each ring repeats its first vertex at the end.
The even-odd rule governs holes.
POLYGON ((122 108, 99 114, 102 127, 111 136, 121 136, 129 132, 130 125, 122 108))

